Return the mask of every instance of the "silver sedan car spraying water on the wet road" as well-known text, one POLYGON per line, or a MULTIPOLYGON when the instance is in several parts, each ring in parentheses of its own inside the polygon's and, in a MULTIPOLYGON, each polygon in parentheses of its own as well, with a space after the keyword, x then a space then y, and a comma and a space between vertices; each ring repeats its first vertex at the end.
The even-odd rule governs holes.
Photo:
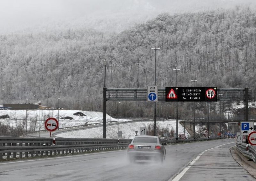
POLYGON ((156 160, 163 162, 165 148, 157 136, 135 136, 128 146, 127 158, 133 163, 137 160, 156 160))

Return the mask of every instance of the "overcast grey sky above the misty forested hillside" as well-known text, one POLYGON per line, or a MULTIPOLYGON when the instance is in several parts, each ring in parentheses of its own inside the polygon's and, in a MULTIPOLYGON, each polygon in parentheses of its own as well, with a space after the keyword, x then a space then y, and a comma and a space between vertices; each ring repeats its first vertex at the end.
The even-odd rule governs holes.
MULTIPOLYGON (((93 19, 106 20, 106 17, 111 21, 115 16, 124 20, 129 17, 130 23, 138 23, 161 12, 226 9, 239 4, 253 7, 255 0, 0 0, 0 33, 58 22, 74 28, 76 23, 92 24, 93 19)), ((96 27, 97 23, 92 26, 96 27)))

